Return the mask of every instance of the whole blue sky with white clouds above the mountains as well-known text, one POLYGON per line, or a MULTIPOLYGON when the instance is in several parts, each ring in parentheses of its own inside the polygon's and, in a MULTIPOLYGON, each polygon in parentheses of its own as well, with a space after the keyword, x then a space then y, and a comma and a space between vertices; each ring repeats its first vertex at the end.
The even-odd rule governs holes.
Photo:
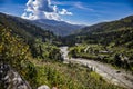
POLYGON ((0 12, 30 20, 94 24, 133 14, 133 0, 0 0, 0 12))

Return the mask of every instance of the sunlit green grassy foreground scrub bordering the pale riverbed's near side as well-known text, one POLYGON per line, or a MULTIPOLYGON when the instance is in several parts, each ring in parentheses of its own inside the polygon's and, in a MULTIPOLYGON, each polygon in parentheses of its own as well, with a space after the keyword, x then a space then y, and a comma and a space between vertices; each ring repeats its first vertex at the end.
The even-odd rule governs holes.
MULTIPOLYGON (((58 89, 123 89, 106 82, 101 76, 84 66, 31 59, 37 70, 33 89, 41 85, 58 89)), ((30 79, 29 79, 30 81, 30 79)))

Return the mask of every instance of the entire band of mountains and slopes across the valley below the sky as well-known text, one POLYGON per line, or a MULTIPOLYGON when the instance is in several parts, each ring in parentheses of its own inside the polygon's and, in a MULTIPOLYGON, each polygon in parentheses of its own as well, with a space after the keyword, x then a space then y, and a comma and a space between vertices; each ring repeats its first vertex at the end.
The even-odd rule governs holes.
POLYGON ((65 44, 70 42, 73 44, 76 42, 102 44, 113 42, 115 44, 133 47, 133 16, 83 28, 83 26, 69 24, 63 21, 45 19, 31 21, 0 13, 0 23, 12 29, 13 33, 27 40, 41 38, 43 41, 60 41, 60 43, 62 42, 65 44), (65 37, 59 38, 58 34, 65 37))

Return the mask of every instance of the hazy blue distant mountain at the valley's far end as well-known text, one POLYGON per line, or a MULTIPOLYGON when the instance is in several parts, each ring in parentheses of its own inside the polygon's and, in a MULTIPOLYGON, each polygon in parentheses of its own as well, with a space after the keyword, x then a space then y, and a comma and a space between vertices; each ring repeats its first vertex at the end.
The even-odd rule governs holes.
POLYGON ((31 20, 31 22, 42 29, 50 30, 57 36, 69 36, 73 31, 79 30, 85 26, 71 24, 65 21, 55 21, 48 19, 31 20))

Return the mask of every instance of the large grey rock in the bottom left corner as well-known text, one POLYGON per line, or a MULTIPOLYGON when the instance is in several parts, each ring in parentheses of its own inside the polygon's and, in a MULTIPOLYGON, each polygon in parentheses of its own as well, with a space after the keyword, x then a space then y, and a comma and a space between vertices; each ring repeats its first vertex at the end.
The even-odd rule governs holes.
POLYGON ((0 63, 0 87, 3 89, 31 89, 17 71, 3 63, 0 63))

